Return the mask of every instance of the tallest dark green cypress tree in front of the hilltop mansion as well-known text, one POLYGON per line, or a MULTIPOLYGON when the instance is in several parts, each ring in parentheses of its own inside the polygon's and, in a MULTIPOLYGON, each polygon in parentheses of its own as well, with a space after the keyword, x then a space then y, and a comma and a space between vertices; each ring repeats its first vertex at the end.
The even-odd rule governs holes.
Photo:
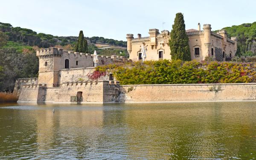
POLYGON ((182 13, 176 14, 170 34, 169 46, 173 60, 180 59, 182 61, 191 61, 189 38, 186 35, 182 13))

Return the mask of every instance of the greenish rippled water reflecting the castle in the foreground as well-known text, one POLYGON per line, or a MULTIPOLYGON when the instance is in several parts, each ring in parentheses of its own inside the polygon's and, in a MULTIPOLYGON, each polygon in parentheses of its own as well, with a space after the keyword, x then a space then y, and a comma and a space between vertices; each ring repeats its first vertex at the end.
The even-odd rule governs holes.
POLYGON ((0 104, 0 159, 253 160, 256 102, 0 104))

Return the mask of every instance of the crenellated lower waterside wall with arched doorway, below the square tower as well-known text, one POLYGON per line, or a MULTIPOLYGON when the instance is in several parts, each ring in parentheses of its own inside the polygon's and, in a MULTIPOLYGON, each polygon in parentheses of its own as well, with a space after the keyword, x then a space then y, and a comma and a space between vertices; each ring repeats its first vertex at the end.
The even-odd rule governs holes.
MULTIPOLYGON (((118 101, 119 83, 116 81, 65 82, 61 87, 45 84, 24 85, 18 102, 71 103, 70 96, 82 92, 81 103, 104 103, 118 101)), ((76 102, 75 102, 76 103, 76 102)))

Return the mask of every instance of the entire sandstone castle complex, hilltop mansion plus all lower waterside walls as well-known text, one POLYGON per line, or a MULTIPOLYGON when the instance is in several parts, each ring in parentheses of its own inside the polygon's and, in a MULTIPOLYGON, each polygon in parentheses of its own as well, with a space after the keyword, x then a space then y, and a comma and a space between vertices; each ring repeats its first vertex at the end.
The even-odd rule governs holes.
MULTIPOLYGON (((204 61, 214 57, 218 61, 235 56, 237 39, 227 38, 227 32, 211 31, 211 25, 204 25, 203 31, 198 23, 198 30, 188 30, 189 47, 192 59, 204 61)), ((141 48, 146 49, 146 60, 171 59, 169 48, 169 31, 150 29, 148 37, 134 38, 127 34, 127 51, 130 59, 123 56, 98 56, 97 65, 125 63, 138 61, 141 48)), ((143 102, 143 101, 214 101, 248 99, 255 100, 254 90, 250 96, 230 96, 234 90, 233 84, 222 86, 218 96, 209 87, 218 84, 146 84, 119 85, 113 80, 111 73, 107 73, 96 81, 91 81, 88 74, 95 71, 93 55, 63 51, 60 48, 46 48, 36 51, 39 59, 38 78, 17 79, 14 92, 19 95, 18 102, 53 102, 53 103, 105 103, 105 102, 143 102), (202 92, 202 90, 204 92, 202 92), (145 93, 147 96, 145 97, 145 93), (168 94, 166 94, 168 93, 168 94), (205 94, 207 93, 207 94, 205 94), (195 96, 200 95, 200 96, 195 96), (142 98, 144 97, 144 98, 142 98)), ((237 85, 237 84, 236 84, 237 85)), ((253 85, 255 88, 256 84, 253 85)), ((236 92, 244 95, 246 84, 237 85, 236 92)), ((250 86, 249 86, 250 87, 250 86)))

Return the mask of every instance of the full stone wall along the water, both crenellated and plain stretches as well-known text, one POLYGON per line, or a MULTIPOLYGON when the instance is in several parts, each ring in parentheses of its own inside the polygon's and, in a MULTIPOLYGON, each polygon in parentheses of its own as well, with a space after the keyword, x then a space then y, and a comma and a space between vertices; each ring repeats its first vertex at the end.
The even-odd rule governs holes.
POLYGON ((71 103, 70 96, 82 92, 81 103, 256 101, 256 83, 242 84, 140 84, 117 81, 82 81, 61 87, 24 85, 18 102, 71 103))

